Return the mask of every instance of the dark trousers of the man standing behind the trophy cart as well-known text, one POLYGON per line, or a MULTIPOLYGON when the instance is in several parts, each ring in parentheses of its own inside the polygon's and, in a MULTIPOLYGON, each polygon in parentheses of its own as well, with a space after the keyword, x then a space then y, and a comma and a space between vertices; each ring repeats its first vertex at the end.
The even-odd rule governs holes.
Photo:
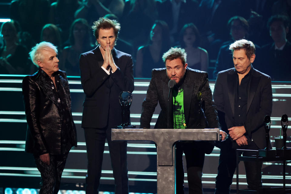
MULTIPOLYGON (((239 147, 230 139, 220 142, 220 156, 218 172, 216 176, 216 190, 215 194, 229 194, 230 185, 232 184, 233 174, 236 170, 236 149, 258 150, 255 142, 248 141, 248 145, 239 147)), ((252 156, 252 153, 243 152, 243 156, 252 156)), ((246 181, 248 188, 256 190, 257 185, 262 187, 262 162, 259 163, 259 175, 257 174, 257 166, 255 162, 244 161, 246 169, 246 181), (257 181, 259 176, 259 182, 257 181)))

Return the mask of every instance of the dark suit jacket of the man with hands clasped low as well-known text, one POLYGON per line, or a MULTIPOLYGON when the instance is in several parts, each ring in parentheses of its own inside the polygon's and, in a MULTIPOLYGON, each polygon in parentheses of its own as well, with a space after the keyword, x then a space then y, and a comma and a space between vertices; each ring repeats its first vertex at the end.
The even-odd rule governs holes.
MULTIPOLYGON (((213 92, 214 104, 218 109, 221 128, 227 133, 230 127, 235 126, 236 76, 235 68, 219 72, 213 92)), ((249 135, 260 149, 266 147, 264 117, 266 115, 271 116, 272 99, 270 76, 253 69, 249 83, 247 114, 244 126, 246 135, 249 135)), ((270 142, 269 147, 271 147, 270 142)))

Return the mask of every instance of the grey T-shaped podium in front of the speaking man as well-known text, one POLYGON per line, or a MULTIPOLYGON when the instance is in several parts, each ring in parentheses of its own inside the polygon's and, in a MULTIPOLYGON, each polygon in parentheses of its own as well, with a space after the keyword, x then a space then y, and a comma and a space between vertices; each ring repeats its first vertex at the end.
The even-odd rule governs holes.
POLYGON ((219 129, 112 129, 112 140, 155 142, 157 194, 175 194, 175 142, 216 141, 219 140, 219 129))

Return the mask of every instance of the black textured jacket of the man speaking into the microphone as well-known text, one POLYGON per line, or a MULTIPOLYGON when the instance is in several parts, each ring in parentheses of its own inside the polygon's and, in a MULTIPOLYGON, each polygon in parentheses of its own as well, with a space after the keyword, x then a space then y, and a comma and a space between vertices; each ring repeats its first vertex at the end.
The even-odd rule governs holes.
MULTIPOLYGON (((140 128, 150 128, 152 114, 157 103, 161 107, 155 129, 167 129, 168 122, 168 87, 169 78, 166 75, 166 68, 153 69, 152 79, 147 90, 146 98, 142 102, 142 115, 140 118, 140 128)), ((196 69, 186 69, 183 83, 184 91, 184 114, 188 129, 219 128, 217 109, 212 99, 212 92, 208 83, 207 72, 196 69), (203 112, 199 114, 198 92, 202 93, 203 112)), ((173 104, 173 97, 170 95, 170 105, 173 104)), ((173 128, 173 106, 170 106, 170 124, 173 128)), ((206 153, 211 153, 213 146, 207 146, 206 153)))

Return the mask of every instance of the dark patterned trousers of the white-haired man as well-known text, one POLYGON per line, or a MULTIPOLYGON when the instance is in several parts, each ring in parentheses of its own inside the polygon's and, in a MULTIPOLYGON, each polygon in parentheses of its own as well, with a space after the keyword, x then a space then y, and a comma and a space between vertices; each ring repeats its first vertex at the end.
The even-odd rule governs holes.
POLYGON ((65 168, 68 154, 49 155, 50 165, 43 163, 39 156, 34 156, 35 164, 41 175, 40 194, 57 194, 60 189, 62 172, 65 168))

